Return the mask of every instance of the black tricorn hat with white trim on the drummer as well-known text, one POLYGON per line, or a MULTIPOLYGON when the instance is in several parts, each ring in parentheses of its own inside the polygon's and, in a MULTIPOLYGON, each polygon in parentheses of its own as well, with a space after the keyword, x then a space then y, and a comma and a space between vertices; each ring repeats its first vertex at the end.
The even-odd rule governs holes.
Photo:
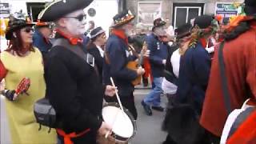
POLYGON ((93 0, 55 0, 42 10, 42 13, 38 15, 38 19, 42 22, 54 22, 75 10, 86 8, 91 2, 93 0))

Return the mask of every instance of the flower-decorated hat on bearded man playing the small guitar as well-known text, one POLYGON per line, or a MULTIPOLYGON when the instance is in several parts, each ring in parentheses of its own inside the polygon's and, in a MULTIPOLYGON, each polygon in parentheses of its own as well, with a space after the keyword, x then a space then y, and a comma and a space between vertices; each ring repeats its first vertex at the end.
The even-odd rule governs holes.
POLYGON ((135 15, 130 10, 123 10, 121 13, 116 14, 113 18, 114 24, 112 27, 118 27, 131 22, 135 18, 135 15))

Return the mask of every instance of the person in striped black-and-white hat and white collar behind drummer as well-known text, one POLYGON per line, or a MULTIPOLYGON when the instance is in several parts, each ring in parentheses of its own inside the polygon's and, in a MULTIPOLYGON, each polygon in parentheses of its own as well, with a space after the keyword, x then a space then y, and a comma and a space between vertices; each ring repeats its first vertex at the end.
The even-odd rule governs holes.
POLYGON ((102 47, 106 45, 106 33, 102 30, 102 27, 97 27, 90 32, 90 42, 86 46, 88 52, 95 58, 95 63, 98 67, 100 75, 100 82, 102 82, 102 70, 104 61, 104 50, 102 47))

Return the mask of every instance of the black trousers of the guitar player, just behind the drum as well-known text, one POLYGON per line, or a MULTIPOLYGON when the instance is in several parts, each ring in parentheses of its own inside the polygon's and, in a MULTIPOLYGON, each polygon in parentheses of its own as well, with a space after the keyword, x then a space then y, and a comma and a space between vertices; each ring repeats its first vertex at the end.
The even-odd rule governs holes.
MULTIPOLYGON (((134 119, 137 120, 138 113, 135 107, 134 93, 131 92, 128 95, 119 95, 119 97, 122 102, 122 106, 126 107, 126 109, 128 109, 129 112, 134 116, 134 119)), ((105 100, 106 102, 118 102, 116 97, 105 97, 105 100)))

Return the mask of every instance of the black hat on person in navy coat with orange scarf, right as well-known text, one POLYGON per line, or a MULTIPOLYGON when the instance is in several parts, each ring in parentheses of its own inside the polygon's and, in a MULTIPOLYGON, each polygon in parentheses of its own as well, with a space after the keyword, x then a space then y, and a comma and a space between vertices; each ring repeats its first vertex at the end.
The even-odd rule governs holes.
POLYGON ((210 15, 201 15, 194 19, 194 26, 198 26, 199 29, 206 29, 212 25, 214 17, 210 15))

